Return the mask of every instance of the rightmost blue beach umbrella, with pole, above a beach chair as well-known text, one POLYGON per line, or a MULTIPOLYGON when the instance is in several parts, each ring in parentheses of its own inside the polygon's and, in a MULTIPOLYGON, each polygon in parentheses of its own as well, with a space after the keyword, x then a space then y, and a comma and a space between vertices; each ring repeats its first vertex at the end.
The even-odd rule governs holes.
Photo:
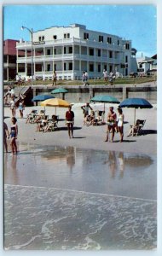
POLYGON ((134 124, 136 124, 136 108, 153 108, 147 100, 143 98, 128 98, 119 104, 120 108, 135 108, 134 124))

